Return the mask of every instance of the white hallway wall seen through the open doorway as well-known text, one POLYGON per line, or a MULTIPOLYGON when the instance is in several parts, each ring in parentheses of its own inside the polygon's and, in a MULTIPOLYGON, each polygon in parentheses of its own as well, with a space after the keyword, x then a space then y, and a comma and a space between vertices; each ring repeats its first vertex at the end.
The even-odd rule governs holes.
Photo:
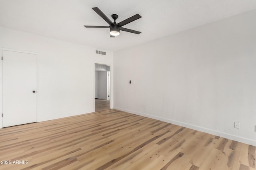
POLYGON ((99 73, 99 99, 107 100, 107 71, 100 71, 99 73))

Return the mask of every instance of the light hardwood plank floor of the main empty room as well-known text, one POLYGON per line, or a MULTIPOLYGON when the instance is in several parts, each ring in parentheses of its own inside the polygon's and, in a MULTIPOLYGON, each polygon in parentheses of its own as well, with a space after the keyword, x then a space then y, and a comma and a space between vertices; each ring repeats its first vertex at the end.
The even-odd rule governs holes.
POLYGON ((0 129, 0 160, 11 161, 1 170, 255 170, 255 154, 251 145, 115 109, 0 129))

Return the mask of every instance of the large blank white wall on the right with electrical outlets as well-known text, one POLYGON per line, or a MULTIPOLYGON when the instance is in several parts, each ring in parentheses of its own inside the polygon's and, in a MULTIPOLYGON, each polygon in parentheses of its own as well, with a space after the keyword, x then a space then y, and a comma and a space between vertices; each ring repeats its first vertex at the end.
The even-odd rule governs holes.
POLYGON ((255 146, 255 16, 114 52, 114 108, 255 146))

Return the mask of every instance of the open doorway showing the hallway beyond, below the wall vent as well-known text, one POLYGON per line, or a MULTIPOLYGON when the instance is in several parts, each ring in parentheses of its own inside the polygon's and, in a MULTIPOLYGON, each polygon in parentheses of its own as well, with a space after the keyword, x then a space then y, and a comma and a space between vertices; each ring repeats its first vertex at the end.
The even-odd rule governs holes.
POLYGON ((110 65, 95 63, 95 111, 110 109, 110 65))

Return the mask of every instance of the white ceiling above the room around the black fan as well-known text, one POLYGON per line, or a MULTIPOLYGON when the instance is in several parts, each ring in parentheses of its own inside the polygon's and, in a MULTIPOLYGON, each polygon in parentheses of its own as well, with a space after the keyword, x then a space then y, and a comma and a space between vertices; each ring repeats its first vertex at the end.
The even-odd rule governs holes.
POLYGON ((0 0, 0 26, 64 41, 117 51, 256 9, 256 0, 0 0), (108 26, 92 7, 117 23, 140 14, 142 18, 110 38, 108 26))

